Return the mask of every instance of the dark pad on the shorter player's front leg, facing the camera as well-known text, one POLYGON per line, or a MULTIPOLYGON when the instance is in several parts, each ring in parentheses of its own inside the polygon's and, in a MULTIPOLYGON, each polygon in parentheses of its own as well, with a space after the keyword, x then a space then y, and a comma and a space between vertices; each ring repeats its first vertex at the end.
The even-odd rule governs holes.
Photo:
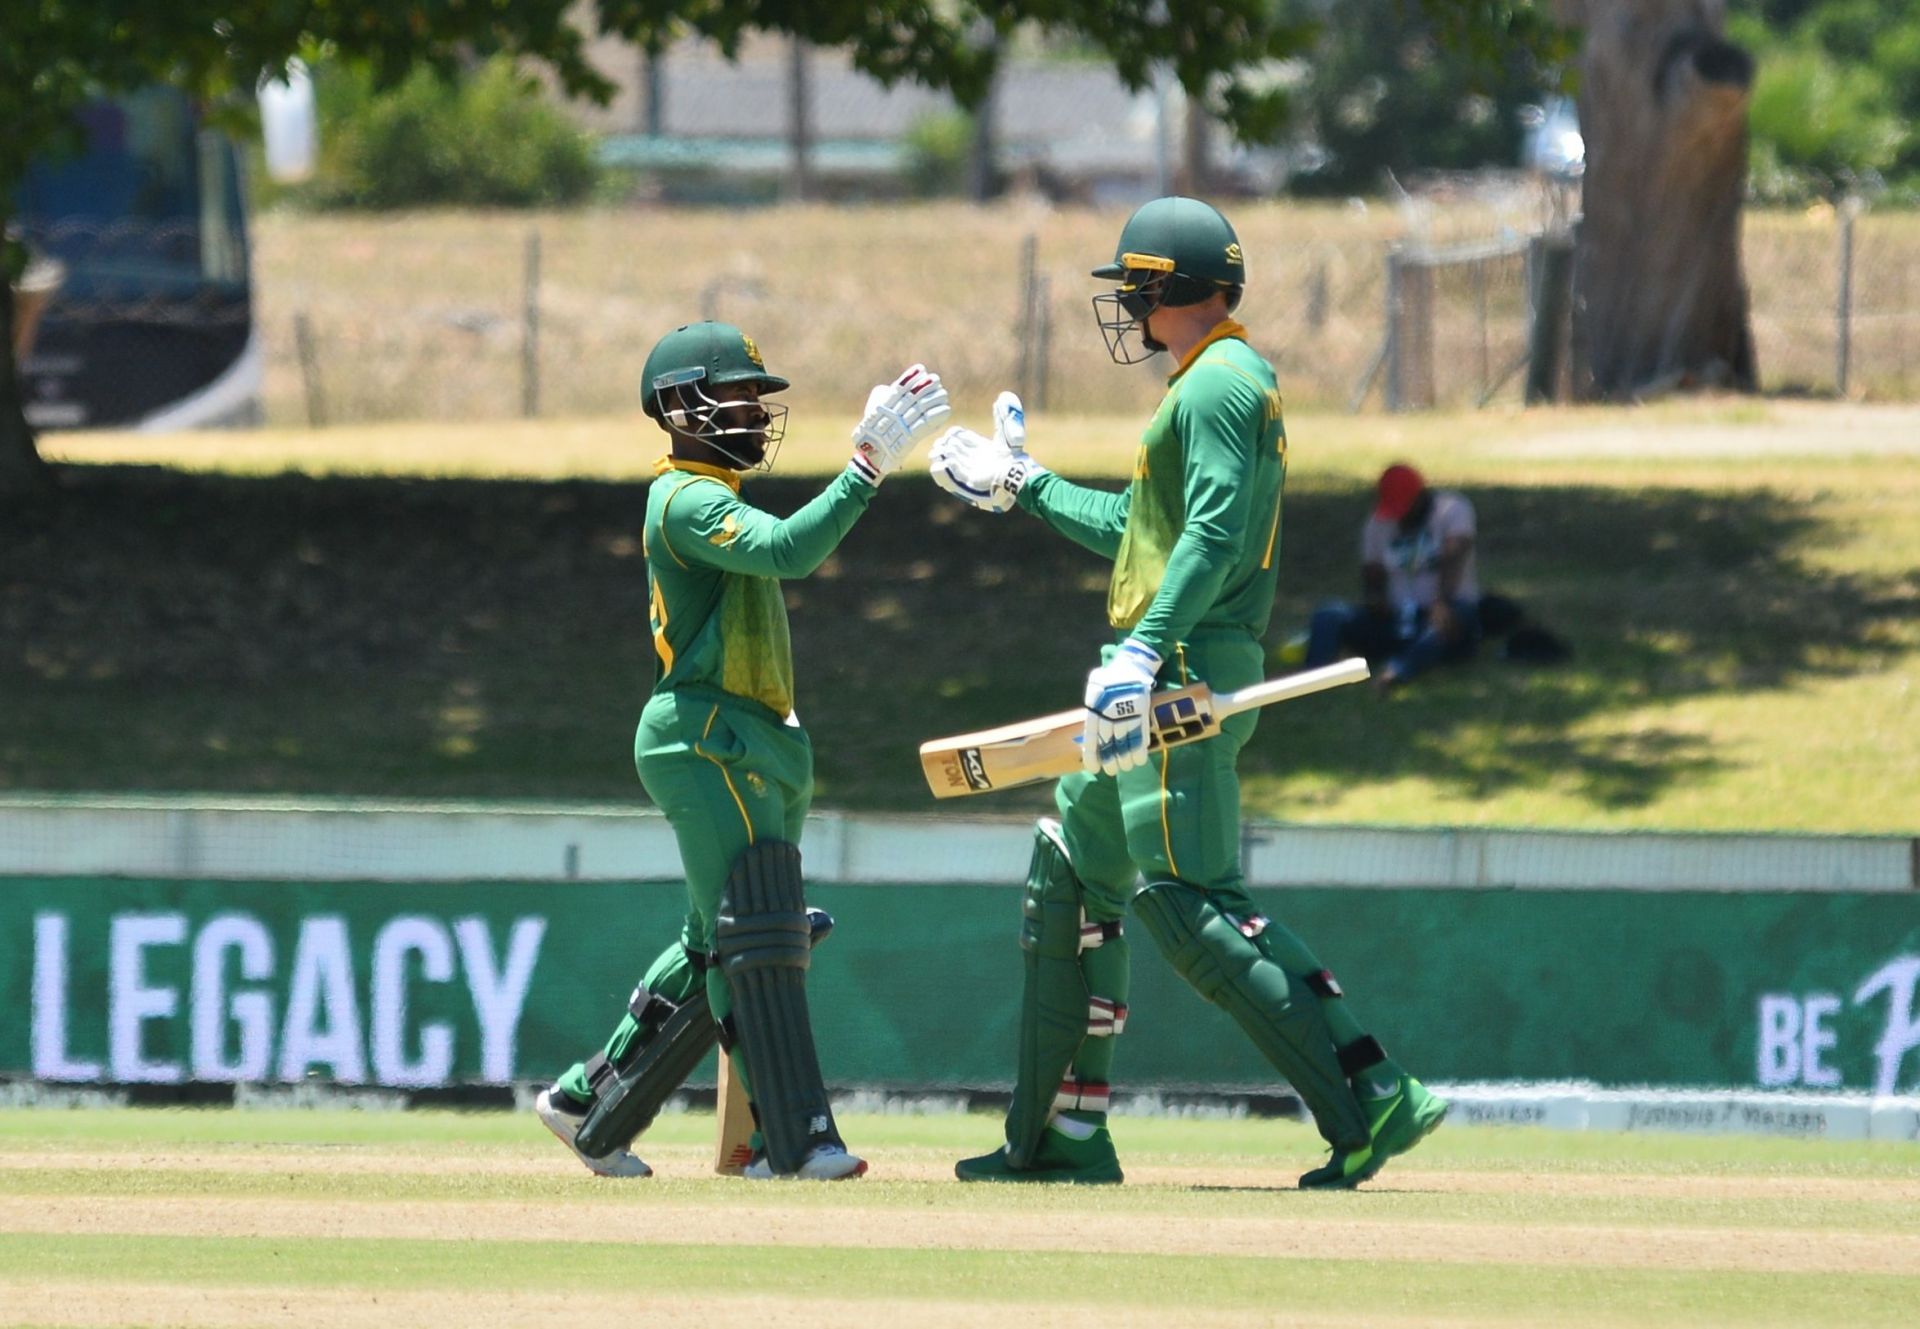
POLYGON ((845 1147, 806 1016, 810 939, 801 851, 762 839, 735 860, 720 893, 714 951, 733 995, 733 1033, 776 1175, 799 1172, 818 1145, 845 1147))

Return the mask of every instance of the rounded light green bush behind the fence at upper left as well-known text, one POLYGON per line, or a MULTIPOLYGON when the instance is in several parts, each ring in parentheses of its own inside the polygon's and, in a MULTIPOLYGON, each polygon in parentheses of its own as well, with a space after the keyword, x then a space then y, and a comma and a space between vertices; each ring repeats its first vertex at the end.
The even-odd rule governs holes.
POLYGON ((386 92, 336 63, 317 104, 321 165, 296 202, 536 207, 584 200, 599 175, 591 138, 501 58, 457 83, 417 69, 386 92))

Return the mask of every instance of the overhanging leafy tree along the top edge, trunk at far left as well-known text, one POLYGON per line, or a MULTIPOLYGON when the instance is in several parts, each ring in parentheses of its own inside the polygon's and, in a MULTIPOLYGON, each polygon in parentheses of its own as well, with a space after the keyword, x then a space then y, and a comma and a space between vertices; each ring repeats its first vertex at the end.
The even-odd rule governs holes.
MULTIPOLYGON (((1540 31, 1532 0, 1409 0, 1469 48, 1540 31)), ((574 96, 611 92, 584 58, 578 25, 649 52, 684 35, 732 54, 749 33, 843 46, 881 81, 914 79, 972 106, 1000 42, 1037 25, 1112 60, 1133 86, 1169 67, 1188 94, 1250 138, 1271 136, 1286 100, 1271 61, 1304 54, 1313 27, 1273 0, 25 0, 0 42, 0 223, 27 161, 73 133, 104 92, 169 83, 211 104, 252 92, 301 50, 367 61, 382 83, 420 63, 453 69, 474 54, 551 65, 574 96)), ((1338 21, 1334 10, 1332 21, 1338 21)), ((19 254, 8 255, 17 267, 19 254)), ((0 280, 0 494, 44 480, 12 361, 12 302, 0 280)))

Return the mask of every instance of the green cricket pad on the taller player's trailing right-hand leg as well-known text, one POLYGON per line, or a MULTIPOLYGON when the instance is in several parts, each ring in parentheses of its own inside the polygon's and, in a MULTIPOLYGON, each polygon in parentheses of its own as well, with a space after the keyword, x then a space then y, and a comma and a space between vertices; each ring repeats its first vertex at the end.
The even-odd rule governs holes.
POLYGON ((1167 964, 1233 1016, 1286 1077, 1321 1137, 1334 1148, 1365 1148, 1367 1114, 1346 1083, 1327 1016, 1306 981, 1246 937, 1206 891, 1185 882, 1148 883, 1133 897, 1133 912, 1154 933, 1167 964))

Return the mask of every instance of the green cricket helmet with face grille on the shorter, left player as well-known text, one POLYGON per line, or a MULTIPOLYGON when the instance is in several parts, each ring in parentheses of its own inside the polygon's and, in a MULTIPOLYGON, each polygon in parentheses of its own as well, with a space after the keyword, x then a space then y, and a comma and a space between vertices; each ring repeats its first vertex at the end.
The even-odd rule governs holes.
POLYGON ((730 323, 687 323, 662 336, 639 371, 639 407, 676 434, 695 438, 739 471, 768 471, 787 432, 787 407, 745 403, 737 384, 760 396, 791 384, 766 373, 753 338, 730 323))

